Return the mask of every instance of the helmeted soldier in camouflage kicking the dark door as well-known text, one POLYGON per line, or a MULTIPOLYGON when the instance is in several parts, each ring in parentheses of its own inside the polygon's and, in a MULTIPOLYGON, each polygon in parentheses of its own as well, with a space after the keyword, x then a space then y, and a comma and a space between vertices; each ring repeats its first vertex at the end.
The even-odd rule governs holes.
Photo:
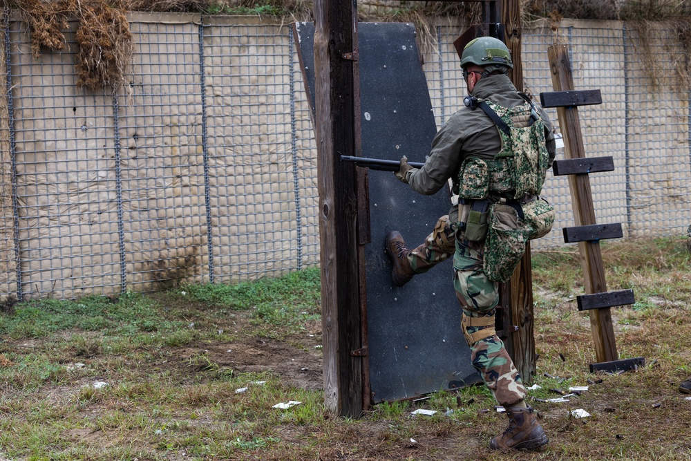
POLYGON ((421 169, 403 157, 395 173, 421 194, 435 194, 451 178, 460 205, 439 218, 415 250, 408 250, 398 232, 387 236, 392 281, 402 286, 453 254, 453 285, 473 366, 510 420, 490 446, 536 449, 547 444, 547 435, 524 401, 526 390, 495 334, 494 315, 498 282, 511 276, 526 241, 551 229, 554 210, 538 194, 554 158, 554 136, 544 111, 511 83, 513 63, 502 41, 469 42, 461 67, 471 93, 465 106, 439 130, 421 169))

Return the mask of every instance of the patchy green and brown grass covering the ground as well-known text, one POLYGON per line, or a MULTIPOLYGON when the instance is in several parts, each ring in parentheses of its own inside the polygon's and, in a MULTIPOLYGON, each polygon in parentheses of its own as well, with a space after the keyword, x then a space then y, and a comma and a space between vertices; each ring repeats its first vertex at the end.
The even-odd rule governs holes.
POLYGON ((484 386, 379 404, 357 420, 328 412, 315 269, 15 305, 0 314, 0 458, 691 460, 691 404, 676 391, 691 373, 690 259, 679 245, 602 245, 608 288, 636 294, 612 313, 619 355, 647 360, 618 376, 587 372, 595 357, 588 315, 575 305, 576 247, 534 252, 540 388, 530 403, 551 439, 535 453, 489 450, 507 420, 484 386), (316 386, 296 384, 310 370, 316 386), (603 381, 567 404, 543 402, 587 379, 603 381), (301 404, 273 408, 291 400, 301 404), (411 415, 417 408, 437 413, 411 415), (591 417, 569 417, 576 408, 591 417))

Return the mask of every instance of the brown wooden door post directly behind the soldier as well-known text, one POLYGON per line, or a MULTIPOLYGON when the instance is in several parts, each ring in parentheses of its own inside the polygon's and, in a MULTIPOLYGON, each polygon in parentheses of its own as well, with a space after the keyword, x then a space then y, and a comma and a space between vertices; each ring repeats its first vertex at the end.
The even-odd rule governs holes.
MULTIPOLYGON (((518 91, 523 91, 523 66, 521 59, 521 19, 520 1, 502 1, 502 23, 504 23, 504 43, 511 51, 513 69, 509 72, 511 82, 518 91)), ((502 308, 509 315, 505 318, 512 326, 509 331, 507 350, 524 384, 529 384, 535 375, 536 355, 533 335, 533 272, 531 268, 530 243, 525 254, 511 276, 511 281, 502 289, 502 308)))

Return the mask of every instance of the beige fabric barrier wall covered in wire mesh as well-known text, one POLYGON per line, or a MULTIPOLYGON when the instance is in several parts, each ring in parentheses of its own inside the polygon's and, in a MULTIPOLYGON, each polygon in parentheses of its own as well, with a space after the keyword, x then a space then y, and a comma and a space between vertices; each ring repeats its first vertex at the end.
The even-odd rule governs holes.
MULTIPOLYGON (((234 283, 318 265, 316 147, 290 24, 130 19, 132 76, 116 95, 77 88, 73 32, 63 52, 35 59, 28 26, 6 21, 0 297, 234 283)), ((460 30, 440 25, 422 47, 437 124, 466 93, 460 30)), ((527 24, 524 86, 538 102, 551 91, 547 47, 569 44, 576 88, 603 94, 580 109, 588 156, 616 165, 591 175, 598 223, 679 235, 690 224, 690 96, 669 78, 679 59, 654 57, 686 53, 664 28, 645 37, 618 22, 527 24)), ((548 176, 557 222, 533 249, 562 244, 573 225, 567 180, 548 176)))

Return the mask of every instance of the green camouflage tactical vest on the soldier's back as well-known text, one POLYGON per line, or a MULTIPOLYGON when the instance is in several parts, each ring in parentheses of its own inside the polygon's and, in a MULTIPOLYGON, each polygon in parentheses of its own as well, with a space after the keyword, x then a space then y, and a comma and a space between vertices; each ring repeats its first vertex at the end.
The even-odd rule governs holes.
POLYGON ((510 198, 540 195, 549 167, 549 153, 545 147, 545 125, 538 117, 538 120, 527 126, 532 109, 530 104, 502 107, 491 101, 486 103, 509 126, 510 131, 510 135, 507 135, 498 129, 502 138, 502 150, 495 156, 495 160, 507 163, 507 167, 501 171, 510 173, 507 175, 510 184, 500 183, 499 178, 493 178, 492 182, 500 189, 513 191, 513 197, 510 198))

